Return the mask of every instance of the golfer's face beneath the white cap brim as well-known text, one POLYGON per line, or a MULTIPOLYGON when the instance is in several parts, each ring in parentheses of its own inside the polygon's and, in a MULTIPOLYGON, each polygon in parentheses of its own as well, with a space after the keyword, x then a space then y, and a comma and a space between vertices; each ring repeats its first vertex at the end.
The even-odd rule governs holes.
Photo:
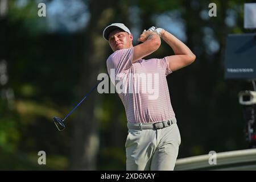
POLYGON ((120 29, 113 30, 109 34, 109 45, 114 52, 133 47, 133 35, 120 29))

